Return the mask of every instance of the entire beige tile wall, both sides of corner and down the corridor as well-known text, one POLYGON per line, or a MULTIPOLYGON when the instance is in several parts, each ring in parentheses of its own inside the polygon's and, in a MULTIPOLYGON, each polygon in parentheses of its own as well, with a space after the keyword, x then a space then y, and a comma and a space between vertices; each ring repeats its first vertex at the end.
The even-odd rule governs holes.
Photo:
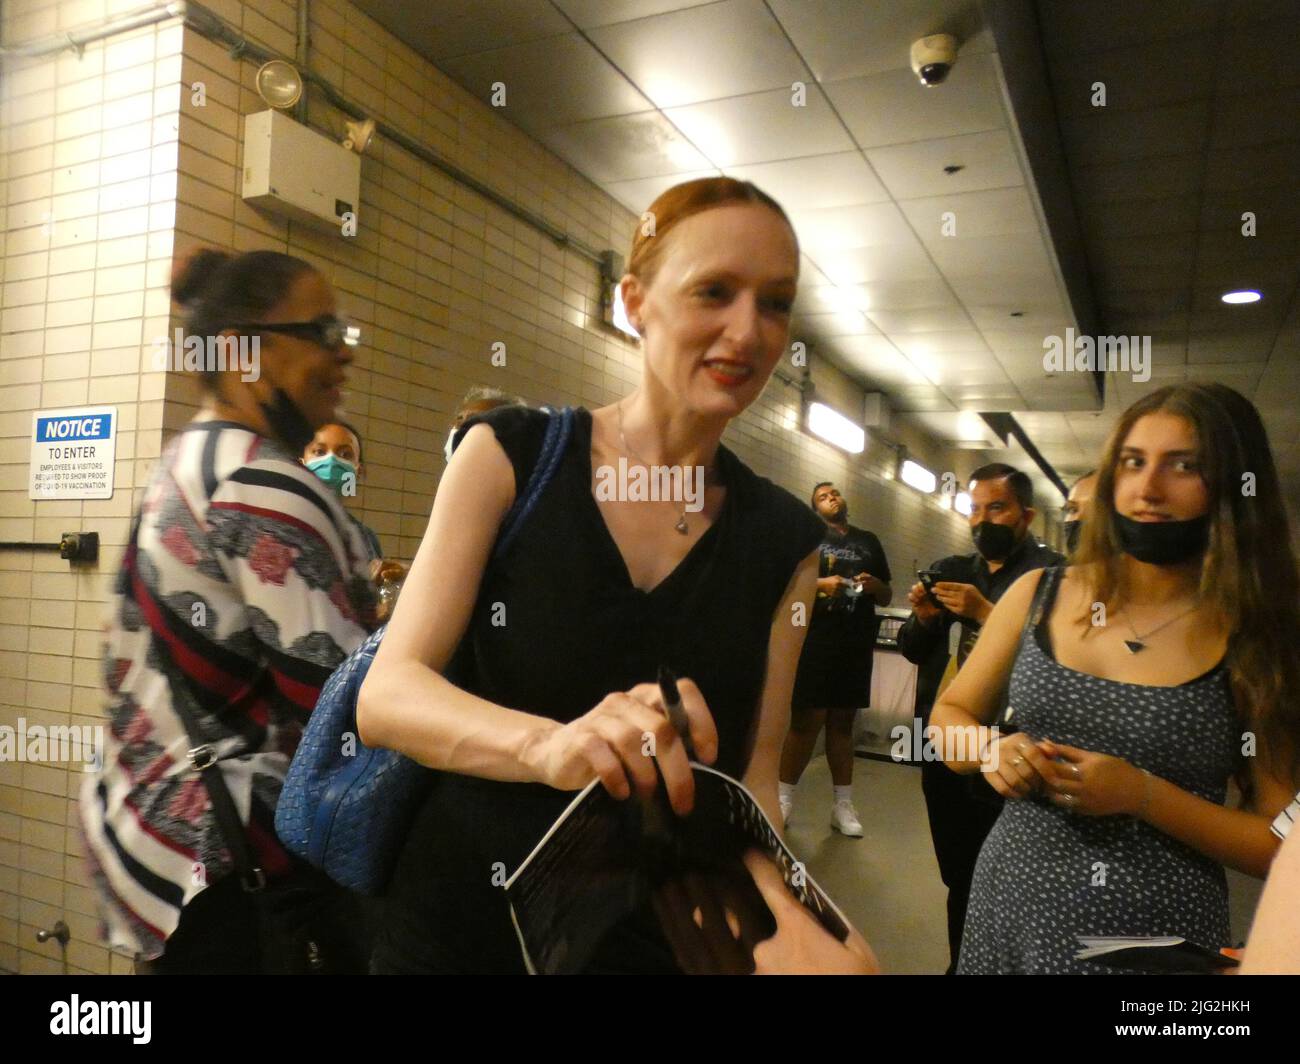
MULTIPOLYGON (((6 40, 99 17, 103 3, 6 5, 6 40), (77 21, 72 21, 73 16, 77 21)), ((129 7, 135 7, 130 4, 129 7)), ((294 52, 295 5, 214 0, 209 7, 257 42, 294 52)), ((625 254, 634 217, 564 163, 472 99, 342 0, 312 4, 312 65, 385 121, 428 143, 503 194, 594 247, 625 254)), ((0 553, 3 722, 98 722, 96 654, 107 581, 133 503, 168 431, 195 408, 183 375, 148 371, 166 333, 173 246, 272 247, 316 263, 363 329, 347 416, 365 437, 360 516, 389 554, 410 558, 424 531, 456 401, 473 384, 530 402, 599 406, 637 381, 637 349, 598 324, 597 269, 581 256, 377 139, 363 157, 360 233, 342 238, 259 213, 239 199, 240 116, 263 108, 255 66, 176 26, 91 46, 81 59, 30 64, 5 77, 0 164, 6 212, 0 310, 0 537, 57 539, 100 531, 101 563, 70 574, 48 555, 0 553), (192 87, 203 82, 204 104, 192 87), (507 364, 491 366, 495 342, 507 364), (114 403, 117 493, 107 502, 26 498, 31 411, 114 403)), ((342 118, 317 98, 309 121, 330 135, 342 118)), ((820 394, 846 412, 861 392, 814 367, 820 394)), ((965 524, 893 481, 893 451, 858 459, 797 429, 798 395, 774 380, 729 431, 758 472, 807 494, 833 479, 853 520, 884 540, 896 602, 915 558, 968 550, 965 524)), ((931 468, 965 475, 953 454, 896 427, 931 468)), ((57 969, 34 933, 62 916, 69 961, 122 970, 96 944, 74 805, 78 771, 0 764, 0 968, 57 969)))

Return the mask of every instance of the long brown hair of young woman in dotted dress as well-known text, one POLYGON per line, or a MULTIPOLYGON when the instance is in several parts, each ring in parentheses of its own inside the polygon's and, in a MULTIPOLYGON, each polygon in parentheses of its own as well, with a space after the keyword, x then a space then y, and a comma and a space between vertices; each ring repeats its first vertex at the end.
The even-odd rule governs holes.
POLYGON ((1231 632, 1226 665, 1243 726, 1254 731, 1271 773, 1295 786, 1300 575, 1273 451, 1249 399, 1222 384, 1176 384, 1152 392, 1121 415, 1097 471, 1092 514, 1083 523, 1080 571, 1108 611, 1128 597, 1114 529, 1115 472, 1128 433, 1148 414, 1176 415, 1196 432, 1210 516, 1201 600, 1218 610, 1231 632))

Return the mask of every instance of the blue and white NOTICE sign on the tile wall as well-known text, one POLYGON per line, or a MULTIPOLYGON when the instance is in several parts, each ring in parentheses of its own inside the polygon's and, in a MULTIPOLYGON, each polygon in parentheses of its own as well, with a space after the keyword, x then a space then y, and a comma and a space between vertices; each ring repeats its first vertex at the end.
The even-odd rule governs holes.
POLYGON ((112 498, 117 407, 38 410, 27 498, 112 498))

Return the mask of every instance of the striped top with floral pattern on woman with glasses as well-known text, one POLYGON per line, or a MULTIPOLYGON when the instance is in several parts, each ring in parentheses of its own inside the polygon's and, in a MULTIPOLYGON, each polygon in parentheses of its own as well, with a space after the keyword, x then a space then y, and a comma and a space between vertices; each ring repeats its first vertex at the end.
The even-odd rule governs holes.
POLYGON ((112 948, 160 956, 182 907, 233 870, 178 700, 261 866, 287 870, 276 801, 321 687, 374 627, 367 558, 339 499, 276 441, 195 421, 159 459, 107 626, 104 756, 81 793, 112 948))

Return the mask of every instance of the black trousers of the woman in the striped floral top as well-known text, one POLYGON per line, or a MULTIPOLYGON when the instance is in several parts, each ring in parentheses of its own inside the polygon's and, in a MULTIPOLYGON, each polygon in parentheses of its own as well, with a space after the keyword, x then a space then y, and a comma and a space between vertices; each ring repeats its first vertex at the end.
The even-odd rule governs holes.
MULTIPOLYGON (((376 922, 376 901, 335 886, 311 869, 294 874, 311 891, 313 940, 332 974, 364 974, 376 922)), ((278 896, 277 901, 283 903, 278 896)), ((295 959, 268 947, 263 905, 238 877, 228 875, 198 894, 182 911, 161 957, 138 961, 140 976, 256 976, 291 968, 295 959)))

